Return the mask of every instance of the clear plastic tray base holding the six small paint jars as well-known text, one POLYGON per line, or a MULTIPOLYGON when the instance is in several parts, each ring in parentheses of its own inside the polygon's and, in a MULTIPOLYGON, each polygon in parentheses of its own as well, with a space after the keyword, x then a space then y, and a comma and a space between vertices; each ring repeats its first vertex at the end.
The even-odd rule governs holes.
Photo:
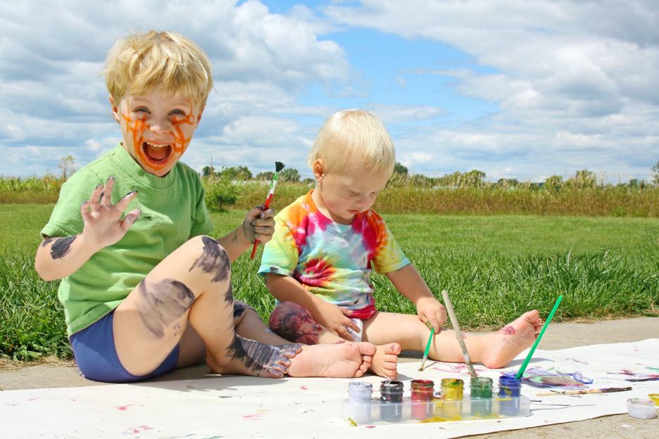
POLYGON ((341 419, 353 426, 472 421, 529 414, 529 398, 525 396, 472 399, 467 395, 462 400, 434 398, 428 402, 413 401, 410 397, 403 397, 403 402, 341 401, 341 419))

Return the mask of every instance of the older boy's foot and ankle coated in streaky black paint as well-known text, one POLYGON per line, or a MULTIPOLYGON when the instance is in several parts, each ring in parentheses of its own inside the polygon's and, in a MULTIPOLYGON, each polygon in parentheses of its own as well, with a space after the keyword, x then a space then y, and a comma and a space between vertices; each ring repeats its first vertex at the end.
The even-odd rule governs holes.
POLYGON ((266 345, 234 334, 225 357, 206 355, 206 364, 216 374, 239 374, 282 378, 291 366, 291 358, 301 352, 301 345, 266 345))

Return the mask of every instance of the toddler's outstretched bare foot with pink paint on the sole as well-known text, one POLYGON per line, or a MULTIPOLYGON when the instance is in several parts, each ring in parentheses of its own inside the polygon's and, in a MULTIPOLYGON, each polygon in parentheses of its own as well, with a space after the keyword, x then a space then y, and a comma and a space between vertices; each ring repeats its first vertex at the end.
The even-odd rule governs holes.
POLYGON ((532 345, 541 328, 538 310, 532 310, 495 333, 488 334, 486 337, 489 340, 483 343, 483 364, 491 369, 506 367, 510 360, 532 345))

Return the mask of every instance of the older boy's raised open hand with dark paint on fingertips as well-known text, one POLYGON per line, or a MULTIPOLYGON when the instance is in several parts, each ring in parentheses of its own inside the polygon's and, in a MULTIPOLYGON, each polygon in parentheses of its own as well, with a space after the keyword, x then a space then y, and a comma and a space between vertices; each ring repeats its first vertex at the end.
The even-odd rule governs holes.
POLYGON ((127 193, 117 204, 113 205, 111 193, 114 183, 114 177, 110 177, 105 186, 102 184, 96 186, 92 197, 80 206, 84 222, 82 238, 96 250, 117 243, 141 213, 139 209, 133 209, 123 220, 121 219, 123 212, 137 196, 137 191, 127 193))

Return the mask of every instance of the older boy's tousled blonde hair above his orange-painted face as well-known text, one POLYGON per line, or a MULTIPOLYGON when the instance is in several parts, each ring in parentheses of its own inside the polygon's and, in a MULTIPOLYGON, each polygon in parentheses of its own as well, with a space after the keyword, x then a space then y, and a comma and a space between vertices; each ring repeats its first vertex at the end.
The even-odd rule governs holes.
POLYGON ((213 88, 211 62, 199 46, 180 34, 132 33, 115 42, 103 70, 115 102, 126 94, 162 89, 203 106, 213 88))

